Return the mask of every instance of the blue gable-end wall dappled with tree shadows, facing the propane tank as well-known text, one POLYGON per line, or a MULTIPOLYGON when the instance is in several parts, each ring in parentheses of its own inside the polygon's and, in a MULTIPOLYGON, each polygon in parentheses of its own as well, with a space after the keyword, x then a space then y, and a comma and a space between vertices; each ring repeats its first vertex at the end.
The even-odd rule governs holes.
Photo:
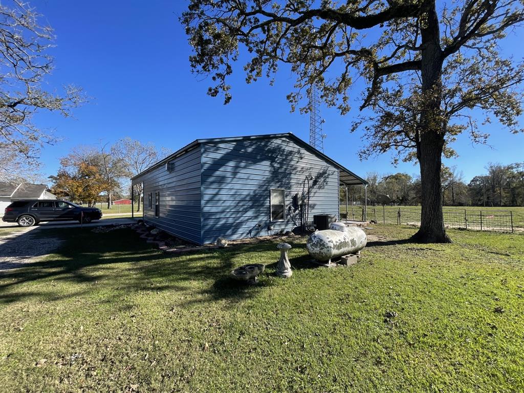
MULTIPOLYGON (((205 144, 202 151, 202 237, 239 239, 290 231, 292 196, 308 189, 314 214, 339 214, 339 170, 287 138, 205 144), (286 219, 271 222, 270 189, 286 190, 286 219), (268 231, 268 225, 273 229, 268 231)), ((293 222, 294 217, 295 222, 293 222)))

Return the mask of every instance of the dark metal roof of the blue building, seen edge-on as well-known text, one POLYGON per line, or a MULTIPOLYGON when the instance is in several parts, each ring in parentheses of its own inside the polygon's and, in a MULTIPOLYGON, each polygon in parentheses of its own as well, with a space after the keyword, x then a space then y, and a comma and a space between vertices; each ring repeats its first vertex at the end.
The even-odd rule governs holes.
POLYGON ((158 161, 157 163, 151 165, 146 170, 138 173, 136 176, 132 177, 131 180, 134 180, 140 176, 142 176, 144 173, 149 172, 150 170, 159 167, 160 165, 163 165, 169 160, 172 160, 173 158, 179 157, 182 154, 185 154, 185 152, 194 149, 195 147, 200 146, 201 144, 209 144, 209 143, 222 143, 222 142, 233 142, 233 141, 239 141, 239 140, 252 140, 252 139, 274 139, 274 138, 288 138, 303 147, 304 149, 310 151, 312 154, 322 158, 323 160, 331 163, 336 168, 339 168, 339 174, 340 174, 340 183, 343 185, 357 185, 357 184, 367 184, 367 182, 357 176, 355 173, 350 171, 349 169, 343 167, 340 165, 340 163, 336 162, 335 160, 329 158, 326 156, 323 152, 315 149, 299 137, 293 135, 292 133, 281 133, 281 134, 267 134, 267 135, 250 135, 250 136, 236 136, 236 137, 226 137, 226 138, 208 138, 208 139, 196 139, 192 141, 190 144, 185 145, 181 149, 175 151, 170 156, 158 161))

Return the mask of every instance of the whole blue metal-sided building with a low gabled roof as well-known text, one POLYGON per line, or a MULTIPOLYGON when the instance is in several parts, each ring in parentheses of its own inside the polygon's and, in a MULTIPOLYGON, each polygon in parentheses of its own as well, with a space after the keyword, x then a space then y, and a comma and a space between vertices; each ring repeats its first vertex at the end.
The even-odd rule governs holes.
POLYGON ((197 244, 291 231, 297 201, 308 224, 339 217, 339 186, 367 184, 290 133, 197 139, 132 179, 139 183, 144 221, 197 244))

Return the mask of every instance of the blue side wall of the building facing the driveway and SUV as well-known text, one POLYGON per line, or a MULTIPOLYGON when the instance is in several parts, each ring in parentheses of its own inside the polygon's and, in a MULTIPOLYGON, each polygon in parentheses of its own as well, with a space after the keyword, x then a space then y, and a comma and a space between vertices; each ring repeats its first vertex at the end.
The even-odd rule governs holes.
POLYGON ((162 165, 137 178, 144 183, 144 221, 171 235, 201 244, 201 146, 173 159, 174 171, 162 165), (155 192, 160 192, 160 216, 155 216, 155 192), (152 193, 149 207, 149 193, 152 193))

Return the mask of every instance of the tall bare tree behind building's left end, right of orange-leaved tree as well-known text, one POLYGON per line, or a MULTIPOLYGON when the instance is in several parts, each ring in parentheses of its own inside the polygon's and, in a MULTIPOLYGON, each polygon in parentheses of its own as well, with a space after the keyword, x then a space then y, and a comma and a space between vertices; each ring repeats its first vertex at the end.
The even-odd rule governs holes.
MULTIPOLYGON (((171 151, 166 148, 157 149, 151 143, 143 144, 138 140, 129 137, 117 141, 111 148, 111 153, 122 161, 123 168, 127 176, 133 177, 138 173, 146 170, 154 163, 167 157, 171 151)), ((140 201, 143 198, 143 185, 136 184, 135 190, 131 189, 132 195, 136 192, 138 195, 137 212, 140 211, 140 201)))

